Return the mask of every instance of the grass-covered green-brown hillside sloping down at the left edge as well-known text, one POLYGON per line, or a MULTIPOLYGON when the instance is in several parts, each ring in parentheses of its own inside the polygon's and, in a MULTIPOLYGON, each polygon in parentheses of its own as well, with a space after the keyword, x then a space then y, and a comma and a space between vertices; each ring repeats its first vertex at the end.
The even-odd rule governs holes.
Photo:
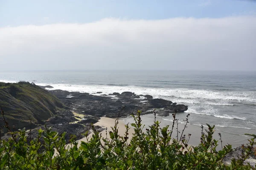
POLYGON ((0 82, 0 106, 7 113, 9 125, 16 129, 29 128, 30 120, 32 127, 43 124, 55 111, 64 108, 57 97, 29 82, 0 82))

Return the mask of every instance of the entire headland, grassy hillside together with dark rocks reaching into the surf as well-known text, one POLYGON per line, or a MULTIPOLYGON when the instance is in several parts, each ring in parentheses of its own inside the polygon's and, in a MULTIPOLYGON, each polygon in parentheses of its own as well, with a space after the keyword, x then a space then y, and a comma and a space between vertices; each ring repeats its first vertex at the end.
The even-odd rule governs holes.
MULTIPOLYGON (((138 110, 148 114, 154 109, 158 109, 159 116, 168 116, 169 113, 188 109, 186 105, 176 105, 165 99, 153 99, 150 95, 137 95, 129 91, 109 95, 97 92, 91 95, 62 90, 47 91, 45 88, 51 87, 38 87, 29 82, 0 83, 0 105, 7 113, 9 125, 15 125, 16 129, 35 128, 32 137, 37 135, 39 128, 44 130, 44 125, 47 125, 60 134, 67 132, 65 138, 68 141, 71 134, 82 138, 81 134, 90 130, 91 123, 98 122, 101 116, 116 118, 138 110)), ((97 128, 102 130, 101 127, 97 128)))

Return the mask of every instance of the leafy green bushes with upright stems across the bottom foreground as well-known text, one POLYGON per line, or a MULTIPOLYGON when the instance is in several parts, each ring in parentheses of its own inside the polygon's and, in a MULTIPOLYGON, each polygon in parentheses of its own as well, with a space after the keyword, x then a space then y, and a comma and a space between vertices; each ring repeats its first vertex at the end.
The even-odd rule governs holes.
MULTIPOLYGON (((155 113, 154 113, 155 114, 155 113)), ((217 151, 217 143, 212 139, 214 126, 201 131, 201 143, 189 147, 188 139, 182 134, 180 138, 172 137, 175 125, 160 128, 160 122, 154 120, 149 129, 143 130, 140 111, 134 116, 134 134, 130 134, 128 143, 128 125, 123 136, 118 133, 116 119, 110 135, 102 137, 92 125, 93 135, 88 142, 81 142, 78 147, 75 136, 70 136, 68 148, 65 133, 58 134, 51 128, 38 130, 38 137, 31 139, 25 129, 10 131, 12 137, 0 141, 0 170, 249 170, 252 167, 244 164, 251 153, 254 139, 244 146, 241 158, 234 159, 227 166, 222 163, 224 156, 232 150, 226 145, 217 151), (102 142, 100 142, 102 140, 102 142), (57 156, 53 156, 57 151, 57 156)), ((189 114, 186 120, 188 120, 189 114)), ((188 122, 188 121, 187 121, 188 122)), ((8 128, 8 125, 6 125, 8 128)), ((184 129, 186 128, 186 125, 184 129)))

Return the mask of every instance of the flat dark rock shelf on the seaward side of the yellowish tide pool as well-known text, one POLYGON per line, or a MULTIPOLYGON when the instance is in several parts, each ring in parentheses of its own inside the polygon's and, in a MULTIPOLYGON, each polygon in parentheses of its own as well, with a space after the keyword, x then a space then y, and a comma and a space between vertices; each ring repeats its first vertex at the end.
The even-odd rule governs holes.
POLYGON ((180 113, 188 109, 186 105, 173 105, 169 100, 153 99, 150 95, 136 95, 129 91, 121 94, 113 93, 109 95, 110 97, 61 90, 50 92, 61 99, 68 107, 97 117, 128 116, 131 113, 136 113, 138 110, 142 111, 142 114, 147 114, 151 113, 148 110, 157 108, 163 108, 163 111, 158 111, 159 115, 168 116, 169 113, 175 111, 180 113), (113 95, 117 98, 111 98, 113 95), (73 97, 67 98, 67 96, 73 97), (122 111, 120 112, 120 110, 122 111))

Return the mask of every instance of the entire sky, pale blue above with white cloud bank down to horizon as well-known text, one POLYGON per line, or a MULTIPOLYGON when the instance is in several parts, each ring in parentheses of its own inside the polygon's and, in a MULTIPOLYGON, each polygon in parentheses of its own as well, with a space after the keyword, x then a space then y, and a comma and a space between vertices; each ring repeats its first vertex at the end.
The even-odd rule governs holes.
POLYGON ((1 70, 256 71, 256 0, 0 0, 1 70))

